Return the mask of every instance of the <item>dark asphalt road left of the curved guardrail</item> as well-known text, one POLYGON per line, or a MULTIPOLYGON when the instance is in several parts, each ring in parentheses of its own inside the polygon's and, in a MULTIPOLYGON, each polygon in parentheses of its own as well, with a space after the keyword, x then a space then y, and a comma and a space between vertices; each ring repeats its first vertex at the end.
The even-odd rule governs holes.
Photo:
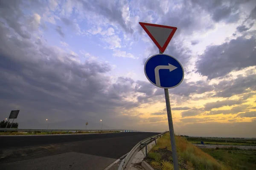
POLYGON ((104 170, 157 133, 0 136, 1 170, 104 170))

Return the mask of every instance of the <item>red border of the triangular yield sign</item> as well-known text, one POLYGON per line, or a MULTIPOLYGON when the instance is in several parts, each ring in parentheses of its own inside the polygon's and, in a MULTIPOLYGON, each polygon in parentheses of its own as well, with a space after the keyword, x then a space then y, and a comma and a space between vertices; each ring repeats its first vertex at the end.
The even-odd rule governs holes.
POLYGON ((151 38, 151 40, 154 42, 155 45, 157 45, 157 48, 163 53, 169 42, 172 40, 173 35, 175 34, 175 31, 177 30, 177 27, 172 27, 172 26, 163 26, 163 25, 158 25, 158 24, 150 24, 150 23, 142 23, 139 22, 140 26, 144 29, 144 31, 148 34, 148 36, 151 38), (166 42, 164 43, 163 47, 160 46, 160 44, 157 42, 157 40, 152 36, 152 34, 148 31, 148 29, 145 26, 155 26, 155 27, 161 27, 161 28, 170 28, 172 29, 171 34, 167 38, 166 42))

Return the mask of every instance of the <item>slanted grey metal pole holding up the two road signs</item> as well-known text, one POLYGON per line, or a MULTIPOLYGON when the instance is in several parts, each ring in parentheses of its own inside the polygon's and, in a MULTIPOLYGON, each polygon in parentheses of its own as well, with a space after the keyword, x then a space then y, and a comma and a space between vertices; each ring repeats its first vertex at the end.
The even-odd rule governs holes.
MULTIPOLYGON (((163 54, 163 53, 159 50, 159 54, 163 54)), ((179 165, 178 165, 177 150, 176 150, 173 122, 172 122, 172 111, 171 111, 168 88, 164 89, 164 95, 166 98, 166 111, 167 111, 167 116, 168 116, 169 132, 170 132, 170 138, 171 138, 171 144, 172 144, 173 165, 174 165, 174 170, 178 170, 179 165)))

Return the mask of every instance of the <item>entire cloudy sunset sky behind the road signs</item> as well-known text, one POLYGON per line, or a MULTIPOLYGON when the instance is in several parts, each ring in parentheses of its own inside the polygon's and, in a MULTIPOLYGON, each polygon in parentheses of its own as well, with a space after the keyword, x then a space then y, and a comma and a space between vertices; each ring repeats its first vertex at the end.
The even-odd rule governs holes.
POLYGON ((144 74, 158 49, 139 22, 177 27, 165 51, 185 71, 169 89, 176 134, 256 137, 254 0, 0 0, 0 119, 168 130, 164 90, 144 74))

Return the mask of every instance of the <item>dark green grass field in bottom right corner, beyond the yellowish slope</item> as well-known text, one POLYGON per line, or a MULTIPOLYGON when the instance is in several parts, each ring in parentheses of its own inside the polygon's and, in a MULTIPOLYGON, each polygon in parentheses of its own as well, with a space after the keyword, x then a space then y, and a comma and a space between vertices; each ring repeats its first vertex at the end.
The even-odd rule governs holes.
MULTIPOLYGON (((222 148, 221 148, 222 149, 222 148)), ((256 170, 256 151, 202 149, 231 170, 256 170)))

